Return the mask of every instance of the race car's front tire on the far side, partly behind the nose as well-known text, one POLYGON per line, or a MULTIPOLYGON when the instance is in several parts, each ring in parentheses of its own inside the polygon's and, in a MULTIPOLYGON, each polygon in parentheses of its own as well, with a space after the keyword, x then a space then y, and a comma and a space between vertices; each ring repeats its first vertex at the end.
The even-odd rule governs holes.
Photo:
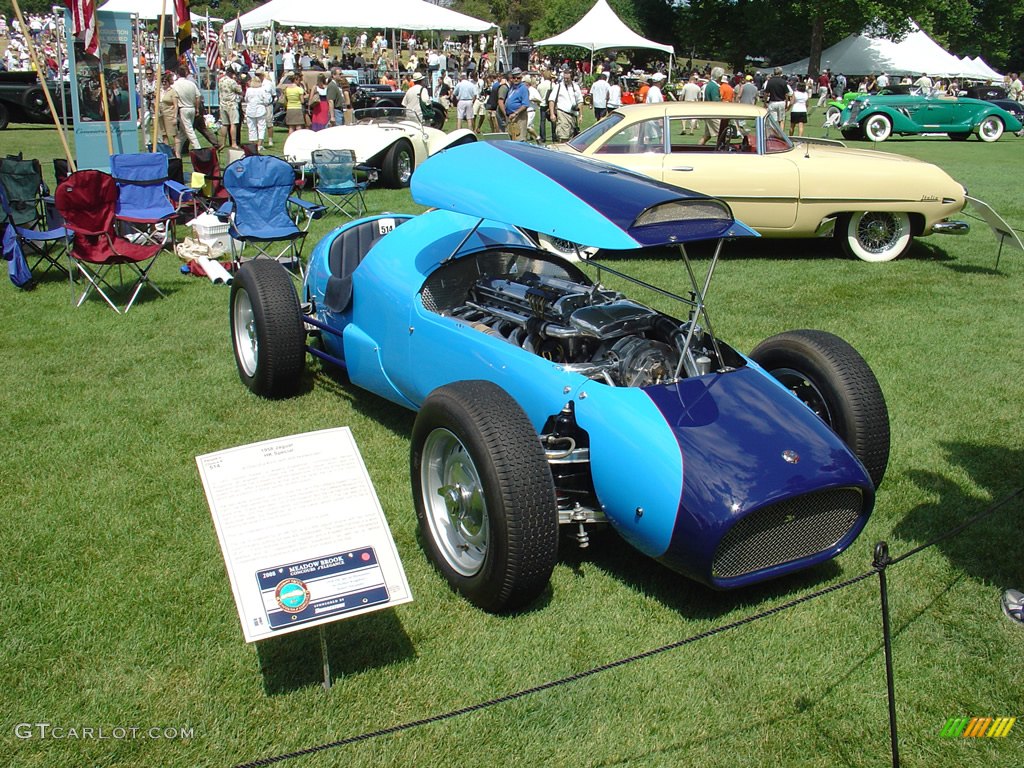
POLYGON ((889 409, 856 349, 825 331, 800 330, 765 339, 751 358, 831 427, 876 487, 882 483, 889 465, 889 409))

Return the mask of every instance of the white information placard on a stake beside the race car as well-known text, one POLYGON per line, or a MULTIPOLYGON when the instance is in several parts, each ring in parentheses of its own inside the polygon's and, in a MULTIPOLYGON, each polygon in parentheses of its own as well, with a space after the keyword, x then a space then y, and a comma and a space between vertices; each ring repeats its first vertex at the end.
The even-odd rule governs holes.
POLYGON ((196 463, 247 642, 412 601, 348 427, 196 463))

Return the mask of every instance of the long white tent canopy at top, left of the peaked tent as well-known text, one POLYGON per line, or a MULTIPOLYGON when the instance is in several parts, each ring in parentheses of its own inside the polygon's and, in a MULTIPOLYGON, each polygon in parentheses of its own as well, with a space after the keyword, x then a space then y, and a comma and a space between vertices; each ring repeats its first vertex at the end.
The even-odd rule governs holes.
MULTIPOLYGON (((350 30, 397 29, 436 32, 486 32, 495 25, 424 0, 270 0, 238 19, 242 29, 261 27, 340 27, 350 30)), ((234 20, 224 25, 228 35, 234 20)))

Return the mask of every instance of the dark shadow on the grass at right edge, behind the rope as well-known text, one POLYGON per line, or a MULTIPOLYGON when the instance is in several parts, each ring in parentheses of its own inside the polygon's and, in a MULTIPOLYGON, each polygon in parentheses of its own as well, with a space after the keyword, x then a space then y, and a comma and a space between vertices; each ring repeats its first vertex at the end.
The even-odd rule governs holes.
MULTIPOLYGON (((1020 588, 1024 582, 1020 546, 1024 477, 1019 468, 1024 463, 1024 451, 965 442, 943 443, 942 446, 950 464, 962 467, 974 485, 983 490, 972 493, 965 483, 947 474, 929 469, 911 470, 908 472, 910 480, 935 501, 910 510, 894 532, 920 546, 999 505, 991 515, 935 546, 973 579, 1020 588)), ((894 557, 900 554, 893 548, 894 557)))

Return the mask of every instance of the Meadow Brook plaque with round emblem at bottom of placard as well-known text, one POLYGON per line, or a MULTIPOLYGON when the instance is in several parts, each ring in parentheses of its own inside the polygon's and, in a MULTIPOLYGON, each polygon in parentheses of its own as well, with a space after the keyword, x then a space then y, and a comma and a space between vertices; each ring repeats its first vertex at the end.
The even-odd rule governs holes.
POLYGON ((389 599, 373 547, 261 568, 256 571, 256 581, 272 630, 389 599))

